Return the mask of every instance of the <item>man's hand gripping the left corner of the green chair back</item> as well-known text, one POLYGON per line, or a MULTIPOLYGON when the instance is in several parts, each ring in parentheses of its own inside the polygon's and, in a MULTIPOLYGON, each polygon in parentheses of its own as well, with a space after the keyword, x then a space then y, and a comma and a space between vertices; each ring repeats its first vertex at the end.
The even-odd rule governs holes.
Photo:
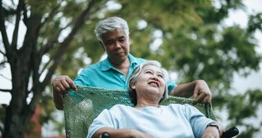
POLYGON ((61 95, 68 92, 70 88, 77 90, 77 86, 74 85, 74 81, 66 75, 54 78, 52 86, 54 88, 54 92, 58 92, 61 95))

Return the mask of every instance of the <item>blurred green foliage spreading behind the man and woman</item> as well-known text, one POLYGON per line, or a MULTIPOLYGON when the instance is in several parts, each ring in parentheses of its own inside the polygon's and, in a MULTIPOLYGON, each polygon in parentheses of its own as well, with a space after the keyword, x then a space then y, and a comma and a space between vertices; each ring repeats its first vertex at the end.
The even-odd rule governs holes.
MULTIPOLYGON (((55 75, 77 76, 79 68, 99 61, 103 50, 94 35, 97 22, 105 17, 123 17, 130 26, 132 55, 145 59, 157 59, 170 72, 177 72, 177 83, 194 79, 207 81, 214 99, 213 106, 220 110, 227 108, 231 126, 243 126, 240 137, 253 137, 259 128, 247 124, 245 119, 257 117, 257 108, 261 106, 261 90, 249 90, 243 95, 229 93, 233 73, 247 76, 252 70, 259 70, 261 55, 256 53, 258 46, 254 32, 261 29, 261 13, 250 15, 247 28, 223 26, 221 22, 228 17, 230 10, 244 9, 241 0, 216 1, 123 1, 111 3, 121 5, 120 9, 108 9, 108 1, 96 1, 90 16, 70 42, 66 55, 61 55, 55 75), (145 23, 141 28, 139 23, 145 23), (161 32, 158 37, 155 32, 161 32), (156 39, 162 41, 158 48, 152 48, 156 39)), ((72 30, 79 14, 90 1, 74 0, 26 0, 28 15, 39 14, 41 21, 46 21, 39 28, 37 49, 52 45, 45 55, 54 58, 55 53, 68 33, 72 30)), ((16 6, 3 4, 6 21, 14 23, 16 6)), ((50 65, 47 65, 50 67, 50 65)), ((50 89, 48 95, 42 95, 39 105, 45 107, 40 119, 41 124, 51 120, 61 131, 63 124, 58 124, 52 117, 54 105, 50 89)))

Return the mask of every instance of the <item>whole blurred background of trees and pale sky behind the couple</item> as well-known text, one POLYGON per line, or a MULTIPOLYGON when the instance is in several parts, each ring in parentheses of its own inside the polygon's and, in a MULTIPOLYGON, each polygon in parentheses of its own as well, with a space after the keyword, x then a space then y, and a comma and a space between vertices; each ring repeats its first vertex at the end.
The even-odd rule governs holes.
POLYGON ((177 83, 204 79, 238 137, 262 135, 262 1, 1 0, 0 137, 65 137, 51 81, 106 57, 96 23, 122 17, 132 55, 156 59, 177 83), (12 135, 8 135, 12 134, 12 135))

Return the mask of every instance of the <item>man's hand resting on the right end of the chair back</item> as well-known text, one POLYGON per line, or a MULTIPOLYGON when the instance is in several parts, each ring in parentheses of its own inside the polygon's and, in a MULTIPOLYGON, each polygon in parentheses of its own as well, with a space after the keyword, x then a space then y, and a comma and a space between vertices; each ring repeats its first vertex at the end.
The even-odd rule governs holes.
POLYGON ((211 102, 211 92, 208 84, 203 80, 197 80, 196 85, 194 87, 193 98, 196 101, 201 103, 210 103, 211 102))

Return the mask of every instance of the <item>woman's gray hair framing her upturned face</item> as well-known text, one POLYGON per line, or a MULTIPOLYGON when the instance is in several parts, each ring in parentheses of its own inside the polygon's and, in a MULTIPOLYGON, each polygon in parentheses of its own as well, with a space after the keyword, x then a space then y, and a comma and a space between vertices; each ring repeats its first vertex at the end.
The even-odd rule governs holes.
POLYGON ((159 103, 163 101, 163 99, 168 98, 168 72, 164 68, 162 68, 161 63, 159 63, 159 61, 145 61, 141 63, 140 66, 138 66, 136 69, 134 69, 134 71, 130 75, 130 78, 128 79, 128 94, 134 106, 137 105, 137 92, 136 90, 132 89, 132 86, 134 85, 134 83, 137 82, 137 78, 139 77, 145 66, 156 66, 157 68, 161 69, 161 72, 163 73, 163 79, 165 80, 165 90, 163 92, 163 97, 161 98, 159 103))

